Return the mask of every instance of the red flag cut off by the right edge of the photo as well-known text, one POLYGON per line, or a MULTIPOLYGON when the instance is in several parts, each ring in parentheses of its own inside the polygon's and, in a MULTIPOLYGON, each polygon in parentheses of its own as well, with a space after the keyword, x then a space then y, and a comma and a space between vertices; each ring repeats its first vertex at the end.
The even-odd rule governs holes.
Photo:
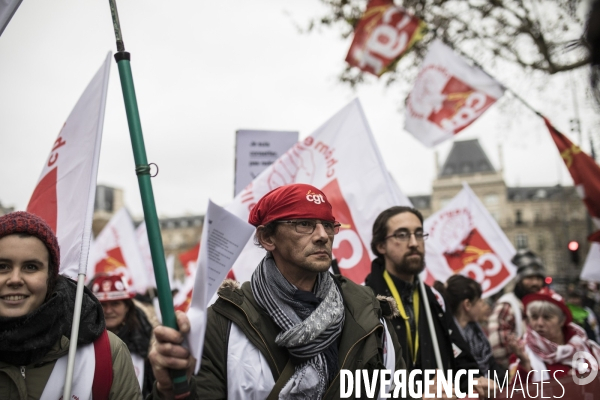
POLYGON ((579 146, 573 144, 560 133, 546 117, 544 122, 565 165, 571 173, 577 194, 588 209, 596 228, 600 228, 600 167, 594 159, 585 154, 579 146))

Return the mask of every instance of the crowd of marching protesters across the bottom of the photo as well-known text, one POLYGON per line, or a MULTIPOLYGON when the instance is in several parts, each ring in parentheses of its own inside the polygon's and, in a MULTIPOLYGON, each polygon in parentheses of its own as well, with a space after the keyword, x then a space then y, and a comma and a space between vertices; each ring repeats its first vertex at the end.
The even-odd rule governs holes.
MULTIPOLYGON (((264 258, 250 281, 226 280, 219 289, 197 373, 184 346, 185 313, 177 313, 179 330, 161 326, 120 276, 94 277, 83 292, 74 395, 173 399, 170 371, 184 370, 190 399, 338 399, 347 390, 342 371, 370 377, 477 370, 474 390, 484 399, 498 384, 490 376, 515 385, 531 374, 529 381, 540 382, 598 372, 593 307, 577 288, 567 304, 547 287, 542 260, 531 251, 512 259, 514 289, 493 307, 480 284, 463 275, 430 287, 420 279, 423 217, 396 206, 374 221, 376 257, 359 285, 331 273, 335 213, 325 193, 306 184, 279 187, 258 201, 249 222, 264 258), (579 352, 589 355, 585 363, 576 362, 579 352)), ((62 394, 76 284, 59 268, 58 241, 42 219, 26 212, 0 217, 2 399, 62 394)), ((423 375, 417 381, 430 384, 423 375)), ((373 383, 374 390, 357 379, 352 398, 395 389, 393 380, 373 383)), ((471 384, 467 374, 452 383, 455 397, 471 384)))

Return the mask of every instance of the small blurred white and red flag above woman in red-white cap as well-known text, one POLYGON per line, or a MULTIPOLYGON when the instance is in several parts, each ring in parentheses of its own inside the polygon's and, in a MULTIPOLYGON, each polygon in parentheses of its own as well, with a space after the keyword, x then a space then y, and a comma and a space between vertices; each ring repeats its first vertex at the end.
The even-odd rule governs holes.
POLYGON ((151 287, 133 221, 125 208, 120 209, 94 240, 90 251, 90 278, 100 273, 123 276, 129 288, 145 293, 151 287))

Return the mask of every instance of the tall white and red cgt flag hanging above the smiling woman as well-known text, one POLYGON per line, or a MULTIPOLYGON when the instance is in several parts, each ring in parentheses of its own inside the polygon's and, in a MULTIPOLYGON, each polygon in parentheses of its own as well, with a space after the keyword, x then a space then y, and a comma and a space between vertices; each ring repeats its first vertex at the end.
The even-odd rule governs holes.
POLYGON ((27 211, 58 237, 60 273, 85 274, 111 54, 87 86, 52 145, 27 211))

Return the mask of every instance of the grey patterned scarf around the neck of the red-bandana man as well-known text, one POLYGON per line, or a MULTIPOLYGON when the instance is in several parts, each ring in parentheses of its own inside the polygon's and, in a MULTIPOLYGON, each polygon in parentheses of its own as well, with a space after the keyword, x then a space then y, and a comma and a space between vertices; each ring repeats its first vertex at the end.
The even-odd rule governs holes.
POLYGON ((317 276, 314 294, 323 299, 311 312, 294 299, 298 290, 275 266, 270 253, 252 274, 256 302, 281 328, 275 343, 301 360, 279 394, 280 399, 321 399, 329 385, 323 351, 342 333, 344 302, 329 272, 317 276))

